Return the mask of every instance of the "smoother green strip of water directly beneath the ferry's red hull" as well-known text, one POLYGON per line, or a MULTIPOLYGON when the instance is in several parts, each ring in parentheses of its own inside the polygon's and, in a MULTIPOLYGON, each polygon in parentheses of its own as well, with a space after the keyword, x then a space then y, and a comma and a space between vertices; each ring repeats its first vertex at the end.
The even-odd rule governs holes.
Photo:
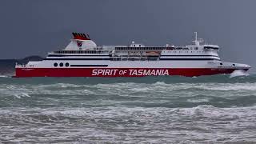
POLYGON ((142 77, 142 78, 11 78, 8 75, 0 77, 1 83, 29 83, 29 84, 56 84, 70 83, 74 85, 97 85, 97 84, 112 84, 112 83, 145 83, 153 84, 156 82, 171 83, 245 83, 256 82, 256 75, 241 75, 241 74, 218 74, 211 76, 200 76, 197 78, 189 78, 182 76, 159 76, 159 77, 142 77))

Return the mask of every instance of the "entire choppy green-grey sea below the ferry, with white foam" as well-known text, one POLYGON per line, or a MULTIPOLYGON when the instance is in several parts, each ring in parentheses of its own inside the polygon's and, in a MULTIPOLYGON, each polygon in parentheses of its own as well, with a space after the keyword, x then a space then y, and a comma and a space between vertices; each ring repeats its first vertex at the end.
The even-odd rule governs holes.
POLYGON ((256 74, 4 74, 0 143, 256 143, 256 74))

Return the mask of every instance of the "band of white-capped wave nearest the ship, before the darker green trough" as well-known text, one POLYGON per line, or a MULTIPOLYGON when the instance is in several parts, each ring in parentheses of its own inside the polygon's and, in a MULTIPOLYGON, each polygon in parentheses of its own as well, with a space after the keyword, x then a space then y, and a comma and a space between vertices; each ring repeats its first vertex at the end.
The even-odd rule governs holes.
MULTIPOLYGON (((150 94, 150 95, 172 95, 172 94, 210 94, 209 91, 239 91, 248 94, 256 93, 256 82, 250 83, 166 83, 155 82, 153 84, 121 82, 96 85, 77 85, 72 83, 54 83, 46 85, 0 85, 0 94, 62 94, 62 95, 110 95, 110 94, 150 94), (202 91, 208 90, 208 91, 202 91), (172 92, 170 92, 172 91, 172 92)), ((226 93, 228 94, 228 93, 226 93)))

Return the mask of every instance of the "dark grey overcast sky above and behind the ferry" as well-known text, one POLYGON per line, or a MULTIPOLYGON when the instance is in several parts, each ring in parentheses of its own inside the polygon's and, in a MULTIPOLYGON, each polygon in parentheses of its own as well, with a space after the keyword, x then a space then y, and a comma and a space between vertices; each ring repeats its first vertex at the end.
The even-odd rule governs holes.
MULTIPOLYGON (((45 56, 88 32, 100 45, 190 44, 193 32, 223 60, 254 64, 254 0, 1 0, 0 58, 45 56)), ((255 70, 251 70, 255 71, 255 70)))

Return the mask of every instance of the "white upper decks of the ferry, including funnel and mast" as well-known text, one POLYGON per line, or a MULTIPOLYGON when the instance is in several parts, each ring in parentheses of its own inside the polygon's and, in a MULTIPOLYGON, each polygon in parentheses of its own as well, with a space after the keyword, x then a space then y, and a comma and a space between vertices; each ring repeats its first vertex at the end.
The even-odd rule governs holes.
POLYGON ((62 59, 79 57, 90 60, 177 60, 190 59, 191 57, 220 60, 218 57, 219 46, 200 45, 200 42, 202 39, 198 39, 196 34, 194 45, 188 46, 170 46, 168 44, 166 46, 145 46, 135 42, 132 42, 130 46, 96 46, 87 37, 81 39, 75 37, 64 50, 50 52, 46 60, 55 60, 60 57, 62 59))

